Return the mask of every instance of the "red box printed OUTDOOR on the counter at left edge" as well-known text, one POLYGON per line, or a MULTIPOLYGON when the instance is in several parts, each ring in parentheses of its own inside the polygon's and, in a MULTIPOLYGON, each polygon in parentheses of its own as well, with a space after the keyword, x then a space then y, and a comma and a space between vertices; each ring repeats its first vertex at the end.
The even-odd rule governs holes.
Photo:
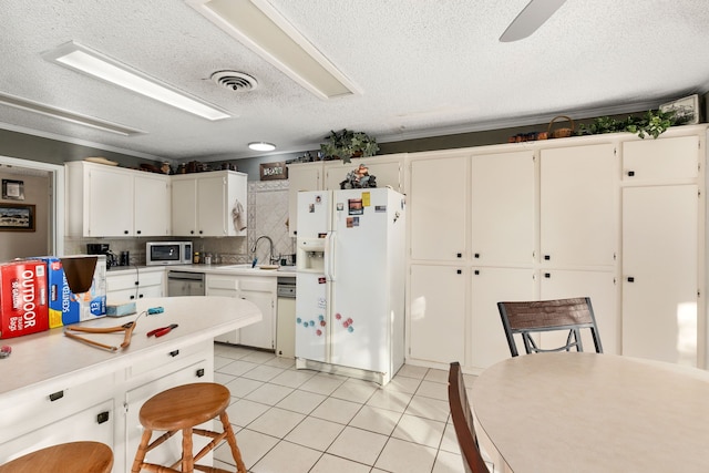
POLYGON ((47 265, 40 260, 0 265, 0 338, 49 329, 47 265))

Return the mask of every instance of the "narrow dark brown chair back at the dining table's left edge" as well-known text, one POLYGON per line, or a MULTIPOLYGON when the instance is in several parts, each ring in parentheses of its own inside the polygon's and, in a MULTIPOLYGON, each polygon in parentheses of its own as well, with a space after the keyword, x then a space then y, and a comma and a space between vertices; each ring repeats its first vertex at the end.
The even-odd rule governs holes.
POLYGON ((463 372, 458 361, 451 363, 448 374, 448 403, 451 408, 451 419, 461 448, 465 473, 490 473, 480 453, 463 372))

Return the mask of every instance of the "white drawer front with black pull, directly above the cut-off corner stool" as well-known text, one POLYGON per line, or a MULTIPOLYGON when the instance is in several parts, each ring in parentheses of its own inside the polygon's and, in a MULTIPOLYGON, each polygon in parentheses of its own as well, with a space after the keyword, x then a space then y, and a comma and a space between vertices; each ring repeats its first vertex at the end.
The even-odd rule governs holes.
POLYGON ((113 397, 114 373, 78 384, 71 381, 66 379, 65 387, 52 389, 52 392, 30 393, 22 397, 21 401, 13 401, 12 405, 2 405, 0 443, 113 397))

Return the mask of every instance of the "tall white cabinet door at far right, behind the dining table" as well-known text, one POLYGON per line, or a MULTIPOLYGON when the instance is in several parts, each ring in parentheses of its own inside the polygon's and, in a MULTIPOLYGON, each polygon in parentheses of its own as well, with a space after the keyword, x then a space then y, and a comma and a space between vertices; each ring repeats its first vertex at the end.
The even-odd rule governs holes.
POLYGON ((697 366, 698 189, 623 191, 623 353, 697 366))

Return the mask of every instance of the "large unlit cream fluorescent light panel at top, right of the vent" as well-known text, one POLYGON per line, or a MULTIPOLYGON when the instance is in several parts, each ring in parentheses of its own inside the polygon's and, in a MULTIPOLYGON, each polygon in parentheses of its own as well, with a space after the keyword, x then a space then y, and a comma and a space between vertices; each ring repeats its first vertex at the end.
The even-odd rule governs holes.
POLYGON ((321 99, 361 91, 265 0, 186 0, 239 42, 321 99))

